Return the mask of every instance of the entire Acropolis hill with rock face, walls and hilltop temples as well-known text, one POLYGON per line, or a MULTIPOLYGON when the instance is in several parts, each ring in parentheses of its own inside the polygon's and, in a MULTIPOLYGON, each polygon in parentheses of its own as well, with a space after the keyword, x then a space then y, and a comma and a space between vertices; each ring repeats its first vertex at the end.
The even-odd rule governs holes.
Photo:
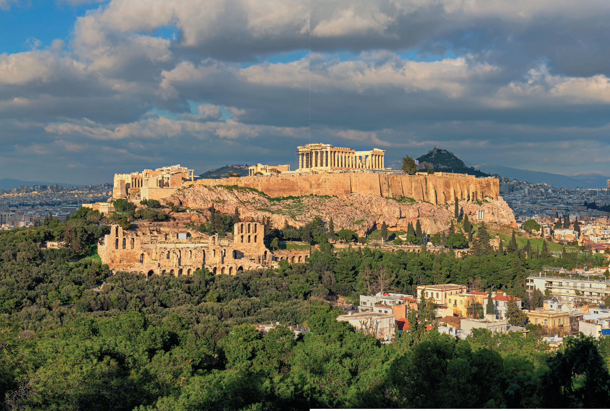
POLYGON ((136 204, 140 199, 171 201, 198 210, 178 218, 183 223, 206 222, 207 208, 213 203, 222 213, 233 213, 238 207, 243 221, 268 216, 279 228, 303 226, 317 215, 326 222, 332 217, 336 229, 351 229, 359 235, 383 221, 390 229, 406 230, 419 219, 425 232, 446 230, 457 197, 460 212, 475 223, 483 215, 489 223, 516 225, 494 178, 453 173, 407 175, 384 168, 385 153, 379 149, 357 152, 315 143, 299 147, 297 154, 297 170, 259 164, 249 173, 257 175, 248 177, 193 180, 193 170, 179 165, 117 174, 114 192, 120 196, 114 197, 129 198, 136 204), (128 180, 121 182, 122 178, 128 180))

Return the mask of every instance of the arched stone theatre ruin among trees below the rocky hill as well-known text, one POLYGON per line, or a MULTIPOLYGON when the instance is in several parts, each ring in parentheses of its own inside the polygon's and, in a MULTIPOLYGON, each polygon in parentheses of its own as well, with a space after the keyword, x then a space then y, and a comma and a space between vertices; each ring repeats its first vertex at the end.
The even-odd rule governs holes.
POLYGON ((98 254, 111 270, 190 276, 199 268, 214 274, 276 268, 280 260, 303 263, 309 250, 270 251, 263 243, 265 227, 259 223, 237 223, 234 235, 206 234, 182 229, 137 224, 124 230, 117 224, 98 242, 98 254))

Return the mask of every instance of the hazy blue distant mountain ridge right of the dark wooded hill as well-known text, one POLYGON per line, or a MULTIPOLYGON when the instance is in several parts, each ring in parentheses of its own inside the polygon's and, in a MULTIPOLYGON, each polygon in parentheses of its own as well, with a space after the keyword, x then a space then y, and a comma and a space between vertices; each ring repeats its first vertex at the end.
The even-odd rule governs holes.
POLYGON ((476 166, 479 170, 489 174, 498 174, 529 183, 547 183, 558 188, 606 188, 606 180, 610 177, 601 174, 579 174, 578 176, 564 176, 562 174, 545 173, 544 171, 521 170, 519 168, 505 167, 495 164, 481 164, 476 166))

